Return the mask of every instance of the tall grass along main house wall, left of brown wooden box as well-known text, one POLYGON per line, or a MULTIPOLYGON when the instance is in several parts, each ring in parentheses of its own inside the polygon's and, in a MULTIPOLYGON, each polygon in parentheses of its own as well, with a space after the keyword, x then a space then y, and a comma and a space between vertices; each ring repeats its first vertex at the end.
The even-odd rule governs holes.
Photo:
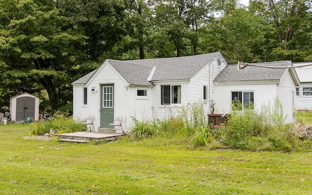
POLYGON ((133 139, 145 139, 153 137, 192 137, 196 134, 194 139, 195 145, 205 145, 207 143, 207 129, 208 121, 204 114, 203 107, 200 102, 196 102, 189 106, 182 107, 175 115, 172 110, 167 107, 166 118, 159 120, 139 121, 132 117, 132 125, 130 126, 130 135, 133 139), (206 130, 205 130, 206 129, 206 130), (201 134, 200 132, 206 131, 201 134), (203 136, 200 138, 200 136, 203 136), (202 143, 198 143, 202 140, 202 143))

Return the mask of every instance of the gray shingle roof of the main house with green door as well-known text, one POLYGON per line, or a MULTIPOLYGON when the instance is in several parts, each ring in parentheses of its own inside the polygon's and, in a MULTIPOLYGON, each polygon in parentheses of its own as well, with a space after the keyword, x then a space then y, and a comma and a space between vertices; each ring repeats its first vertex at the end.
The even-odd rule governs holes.
MULTIPOLYGON (((202 54, 196 56, 161 58, 161 59, 137 59, 107 61, 125 78, 131 85, 153 86, 151 82, 159 80, 181 80, 192 78, 201 68, 210 62, 220 52, 202 54), (147 80, 153 67, 156 67, 151 82, 147 80)), ((72 84, 85 84, 96 70, 79 78, 72 84)))

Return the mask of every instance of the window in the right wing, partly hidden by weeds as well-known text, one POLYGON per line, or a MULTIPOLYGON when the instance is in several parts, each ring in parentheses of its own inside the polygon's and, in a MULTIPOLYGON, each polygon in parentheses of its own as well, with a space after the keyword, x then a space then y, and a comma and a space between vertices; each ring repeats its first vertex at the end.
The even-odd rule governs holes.
POLYGON ((254 92, 232 92, 232 106, 235 106, 238 110, 243 110, 244 107, 250 107, 254 105, 254 92))

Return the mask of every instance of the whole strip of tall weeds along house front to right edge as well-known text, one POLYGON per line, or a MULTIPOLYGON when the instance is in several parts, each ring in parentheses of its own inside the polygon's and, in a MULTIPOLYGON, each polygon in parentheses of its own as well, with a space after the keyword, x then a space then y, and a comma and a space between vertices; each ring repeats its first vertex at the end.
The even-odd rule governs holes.
POLYGON ((262 105, 260 111, 252 103, 243 106, 238 100, 231 106, 226 127, 220 129, 210 128, 201 102, 196 102, 182 107, 176 115, 167 107, 167 117, 163 120, 139 121, 133 117, 130 135, 133 140, 157 137, 167 142, 176 137, 183 143, 187 140, 193 147, 285 152, 312 149, 311 140, 290 133, 293 125, 285 124, 278 97, 272 104, 262 105))

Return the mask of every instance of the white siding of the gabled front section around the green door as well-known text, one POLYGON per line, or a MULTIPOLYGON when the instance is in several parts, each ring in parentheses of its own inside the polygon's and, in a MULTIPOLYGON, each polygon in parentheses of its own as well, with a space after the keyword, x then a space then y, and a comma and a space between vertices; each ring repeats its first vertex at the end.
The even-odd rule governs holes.
POLYGON ((95 130, 100 127, 100 93, 101 84, 114 84, 114 117, 122 117, 122 127, 125 130, 131 122, 131 117, 137 119, 152 118, 153 90, 151 87, 138 87, 148 89, 148 98, 137 98, 137 87, 129 86, 124 78, 109 64, 106 63, 87 83, 87 105, 83 104, 84 86, 74 86, 74 116, 85 118, 93 115, 95 130), (94 93, 91 89, 94 89, 94 93))

